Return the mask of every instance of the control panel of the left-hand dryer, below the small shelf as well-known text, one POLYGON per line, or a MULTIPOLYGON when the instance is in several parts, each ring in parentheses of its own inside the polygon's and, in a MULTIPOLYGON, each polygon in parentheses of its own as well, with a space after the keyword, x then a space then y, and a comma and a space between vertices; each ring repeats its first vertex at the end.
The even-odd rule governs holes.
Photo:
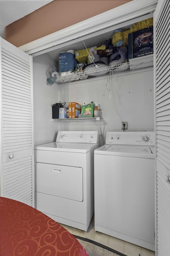
POLYGON ((98 143, 98 131, 58 131, 56 142, 98 143))

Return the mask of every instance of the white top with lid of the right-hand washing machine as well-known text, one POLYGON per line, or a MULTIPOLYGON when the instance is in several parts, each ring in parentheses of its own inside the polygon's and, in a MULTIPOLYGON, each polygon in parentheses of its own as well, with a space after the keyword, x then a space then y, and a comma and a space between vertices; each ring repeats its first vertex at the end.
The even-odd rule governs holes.
POLYGON ((96 149, 94 154, 154 159, 155 148, 147 146, 104 145, 96 149))

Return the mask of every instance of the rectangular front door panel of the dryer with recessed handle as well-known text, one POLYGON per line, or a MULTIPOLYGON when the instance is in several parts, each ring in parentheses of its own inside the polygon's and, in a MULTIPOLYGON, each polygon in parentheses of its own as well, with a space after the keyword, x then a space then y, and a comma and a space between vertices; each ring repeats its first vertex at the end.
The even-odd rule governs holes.
POLYGON ((83 169, 80 167, 35 163, 36 192, 83 201, 83 169))

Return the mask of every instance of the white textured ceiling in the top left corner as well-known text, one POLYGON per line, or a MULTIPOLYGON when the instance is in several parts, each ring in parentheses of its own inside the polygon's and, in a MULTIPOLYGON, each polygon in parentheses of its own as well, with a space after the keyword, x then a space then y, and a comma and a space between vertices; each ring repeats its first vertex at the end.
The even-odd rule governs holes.
POLYGON ((5 27, 54 0, 0 0, 0 36, 5 27))

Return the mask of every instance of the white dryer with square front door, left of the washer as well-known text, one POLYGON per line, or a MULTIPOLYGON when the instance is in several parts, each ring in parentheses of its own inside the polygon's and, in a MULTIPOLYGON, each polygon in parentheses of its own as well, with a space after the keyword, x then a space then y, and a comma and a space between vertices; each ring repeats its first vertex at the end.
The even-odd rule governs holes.
POLYGON ((35 206, 55 221, 87 231, 94 214, 98 131, 58 131, 35 146, 35 206))

